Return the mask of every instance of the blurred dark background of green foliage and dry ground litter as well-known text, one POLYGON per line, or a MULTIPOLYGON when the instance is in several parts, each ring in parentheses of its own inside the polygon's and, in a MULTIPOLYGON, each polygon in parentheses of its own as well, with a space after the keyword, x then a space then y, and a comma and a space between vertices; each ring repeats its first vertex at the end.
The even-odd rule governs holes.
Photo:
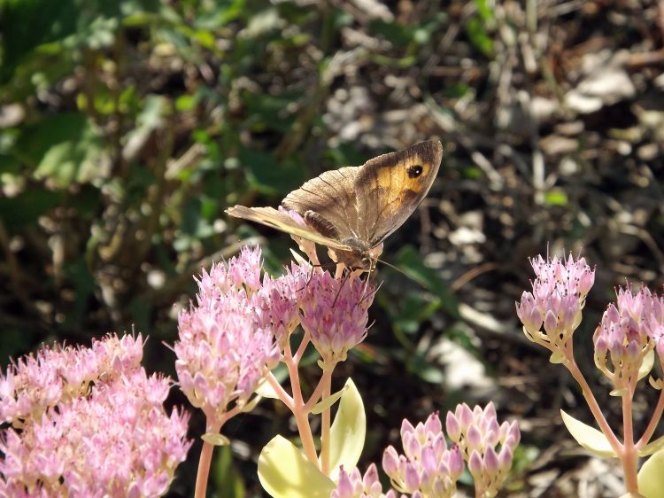
MULTIPOLYGON (((513 301, 528 256, 597 264, 577 331, 592 375, 613 286, 662 284, 663 33, 638 0, 0 0, 0 357, 135 328, 148 370, 172 374, 162 341, 192 276, 241 240, 278 271, 293 245, 225 207, 438 136, 439 179, 384 253, 426 288, 380 268, 375 324, 336 378, 367 402, 364 464, 404 416, 493 399, 522 419, 506 495, 621 494, 561 430, 561 407, 589 415, 513 301)), ((274 432, 294 433, 269 402, 229 424, 214 496, 260 495, 274 432)))

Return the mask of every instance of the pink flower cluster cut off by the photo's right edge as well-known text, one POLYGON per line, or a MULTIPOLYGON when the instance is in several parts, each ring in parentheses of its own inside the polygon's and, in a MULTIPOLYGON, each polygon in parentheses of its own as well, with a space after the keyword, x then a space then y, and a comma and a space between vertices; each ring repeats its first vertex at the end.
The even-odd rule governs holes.
POLYGON ((645 355, 653 348, 664 353, 664 298, 643 287, 636 294, 619 288, 617 306, 606 307, 593 335, 595 363, 616 388, 636 382, 645 355), (610 358, 613 371, 607 360, 610 358))

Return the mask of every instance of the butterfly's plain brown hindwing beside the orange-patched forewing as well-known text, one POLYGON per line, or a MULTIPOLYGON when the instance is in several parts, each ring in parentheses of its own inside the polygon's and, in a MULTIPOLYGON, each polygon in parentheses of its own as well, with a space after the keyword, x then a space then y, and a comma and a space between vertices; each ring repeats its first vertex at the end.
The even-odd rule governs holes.
POLYGON ((359 167, 326 171, 290 192, 282 200, 320 234, 336 240, 358 238, 358 199, 355 184, 359 167))

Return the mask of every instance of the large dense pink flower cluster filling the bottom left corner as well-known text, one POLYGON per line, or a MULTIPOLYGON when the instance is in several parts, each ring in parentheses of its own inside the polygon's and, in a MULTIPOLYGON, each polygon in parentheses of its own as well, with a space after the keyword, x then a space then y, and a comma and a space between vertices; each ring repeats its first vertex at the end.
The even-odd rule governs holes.
POLYGON ((140 366, 143 339, 44 349, 0 382, 0 496, 166 493, 184 461, 189 416, 162 406, 170 382, 140 366))

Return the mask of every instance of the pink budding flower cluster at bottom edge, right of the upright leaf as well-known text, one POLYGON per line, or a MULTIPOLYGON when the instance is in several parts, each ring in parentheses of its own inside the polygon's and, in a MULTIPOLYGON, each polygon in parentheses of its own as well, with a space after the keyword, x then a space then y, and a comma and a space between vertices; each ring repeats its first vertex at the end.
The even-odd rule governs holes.
POLYGON ((351 472, 341 469, 330 498, 451 497, 457 491, 464 461, 475 479, 475 496, 495 496, 512 466, 513 450, 521 440, 516 422, 498 425, 493 403, 485 409, 473 410, 466 404, 459 405, 454 413, 448 412, 445 422, 453 442, 451 447, 445 442, 437 413, 414 427, 404 420, 401 441, 405 455, 399 455, 390 446, 382 456, 382 469, 394 489, 382 493, 372 463, 364 476, 357 468, 351 472))

